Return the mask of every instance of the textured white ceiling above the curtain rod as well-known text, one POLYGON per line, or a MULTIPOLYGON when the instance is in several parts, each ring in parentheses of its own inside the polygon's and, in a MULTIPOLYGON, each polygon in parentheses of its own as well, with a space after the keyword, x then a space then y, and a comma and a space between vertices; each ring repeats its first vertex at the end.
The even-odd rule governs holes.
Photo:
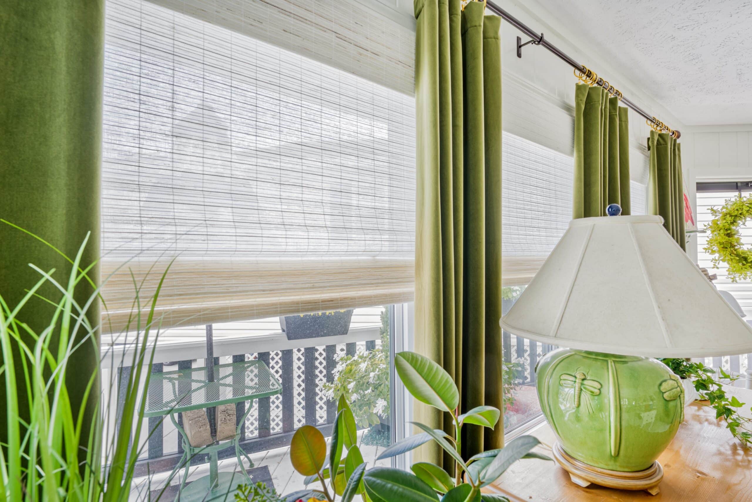
MULTIPOLYGON (((752 2, 540 3, 590 41, 593 47, 584 47, 584 52, 597 50, 601 59, 619 65, 684 124, 752 123, 752 2)), ((587 66, 587 61, 581 63, 587 66)))

